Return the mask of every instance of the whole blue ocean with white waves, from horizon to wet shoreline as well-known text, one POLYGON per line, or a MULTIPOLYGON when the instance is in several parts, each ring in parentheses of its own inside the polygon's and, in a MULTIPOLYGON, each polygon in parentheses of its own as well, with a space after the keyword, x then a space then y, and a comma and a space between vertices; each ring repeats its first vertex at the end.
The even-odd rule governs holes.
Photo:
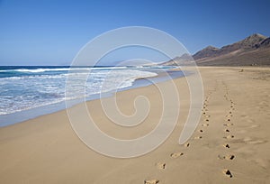
MULTIPOLYGON (((73 104, 100 97, 117 88, 118 91, 132 87, 147 86, 145 79, 156 77, 174 67, 76 67, 68 66, 2 66, 0 67, 0 126, 19 123, 39 115, 46 115, 64 109, 65 100, 73 104), (89 72, 90 71, 90 72, 89 72), (89 74, 90 73, 90 74, 89 74), (84 82, 85 93, 66 94, 69 75, 89 74, 84 82), (138 80, 137 80, 138 79, 138 80), (135 82, 136 81, 136 82, 135 82), (73 95, 74 94, 74 95, 73 95)), ((182 74, 177 72, 177 77, 182 74)), ((169 78, 156 78, 156 81, 169 78)), ((76 91, 76 86, 72 87, 76 91)), ((70 103, 69 103, 70 104, 70 103)))

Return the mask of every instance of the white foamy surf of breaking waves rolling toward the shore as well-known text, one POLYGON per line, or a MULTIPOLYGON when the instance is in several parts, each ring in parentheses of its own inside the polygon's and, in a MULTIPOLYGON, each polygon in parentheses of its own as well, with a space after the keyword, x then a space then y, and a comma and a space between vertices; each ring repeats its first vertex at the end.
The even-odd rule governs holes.
POLYGON ((0 78, 0 115, 12 114, 38 106, 48 106, 67 99, 91 97, 94 94, 112 91, 116 88, 130 87, 136 78, 157 75, 154 72, 136 68, 127 69, 126 67, 92 68, 91 71, 85 68, 14 70, 27 74, 20 74, 20 76, 10 76, 9 74, 6 78, 0 78), (46 75, 37 75, 37 73, 45 71, 51 72, 46 75), (65 97, 67 76, 72 76, 75 81, 72 88, 74 93, 65 97), (85 76, 87 77, 86 83, 85 76), (82 85, 85 86, 82 87, 82 85), (84 91, 79 89, 84 89, 84 91))

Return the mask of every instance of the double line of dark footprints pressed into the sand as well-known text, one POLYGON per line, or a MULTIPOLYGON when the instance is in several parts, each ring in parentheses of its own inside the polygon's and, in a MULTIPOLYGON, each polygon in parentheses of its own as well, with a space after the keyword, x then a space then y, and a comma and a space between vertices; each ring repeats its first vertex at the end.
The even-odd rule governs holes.
MULTIPOLYGON (((233 114, 233 111, 235 110, 235 108, 234 108, 234 102, 229 98, 229 92, 228 92, 229 90, 228 90, 228 88, 226 87, 225 84, 223 84, 223 85, 225 86, 225 89, 226 89, 226 94, 224 95, 224 97, 225 97, 225 99, 227 101, 230 102, 229 113, 228 113, 228 115, 225 116, 226 123, 223 124, 223 126, 225 127, 225 129, 224 129, 225 136, 223 136, 223 138, 225 140, 228 140, 229 141, 230 139, 233 139, 234 138, 234 135, 229 134, 230 133, 229 127, 230 126, 233 126, 233 123, 231 123, 231 117, 232 117, 232 114, 233 114)), ((208 112, 208 108, 207 107, 208 107, 208 103, 209 103, 210 97, 211 97, 211 92, 208 93, 208 96, 205 98, 205 100, 203 102, 203 106, 202 106, 202 115, 205 118, 204 119, 204 122, 205 123, 202 124, 202 127, 204 127, 204 128, 207 128, 210 125, 210 117, 211 117, 211 115, 208 115, 208 113, 207 113, 208 112)), ((201 134, 204 132, 204 130, 203 129, 199 129, 197 132, 200 133, 200 135, 195 136, 193 139, 194 140, 200 140, 200 139, 202 139, 202 135, 201 134)), ((185 143, 184 144, 184 147, 186 147, 186 148, 187 147, 190 147, 190 143, 185 143)), ((223 147, 224 147, 224 149, 226 149, 226 150, 228 149, 229 150, 230 145, 229 145, 229 143, 224 143, 223 144, 223 147)), ((184 152, 173 152, 173 153, 170 154, 170 157, 172 159, 177 159, 177 158, 179 158, 179 157, 181 157, 183 155, 184 155, 184 152)), ((235 159, 235 155, 234 154, 227 153, 227 154, 224 154, 224 155, 218 155, 218 158, 220 160, 232 161, 232 160, 235 159)), ((166 163, 165 162, 157 162, 156 163, 156 167, 157 167, 158 170, 166 170, 166 163)), ((224 169, 223 170, 223 174, 225 176, 229 177, 229 178, 232 178, 233 177, 232 172, 230 170, 228 170, 228 169, 224 169)), ((159 180, 158 179, 145 179, 144 180, 144 183, 145 184, 157 184, 157 183, 159 183, 159 180)))

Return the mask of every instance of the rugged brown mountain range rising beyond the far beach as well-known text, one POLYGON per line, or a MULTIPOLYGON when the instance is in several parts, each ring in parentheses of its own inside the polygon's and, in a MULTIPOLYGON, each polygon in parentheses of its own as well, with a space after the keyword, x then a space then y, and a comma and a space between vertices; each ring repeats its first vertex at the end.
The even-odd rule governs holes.
POLYGON ((195 61, 199 66, 270 65, 270 37, 255 33, 242 41, 219 48, 208 46, 195 54, 184 54, 165 65, 186 65, 195 61))

